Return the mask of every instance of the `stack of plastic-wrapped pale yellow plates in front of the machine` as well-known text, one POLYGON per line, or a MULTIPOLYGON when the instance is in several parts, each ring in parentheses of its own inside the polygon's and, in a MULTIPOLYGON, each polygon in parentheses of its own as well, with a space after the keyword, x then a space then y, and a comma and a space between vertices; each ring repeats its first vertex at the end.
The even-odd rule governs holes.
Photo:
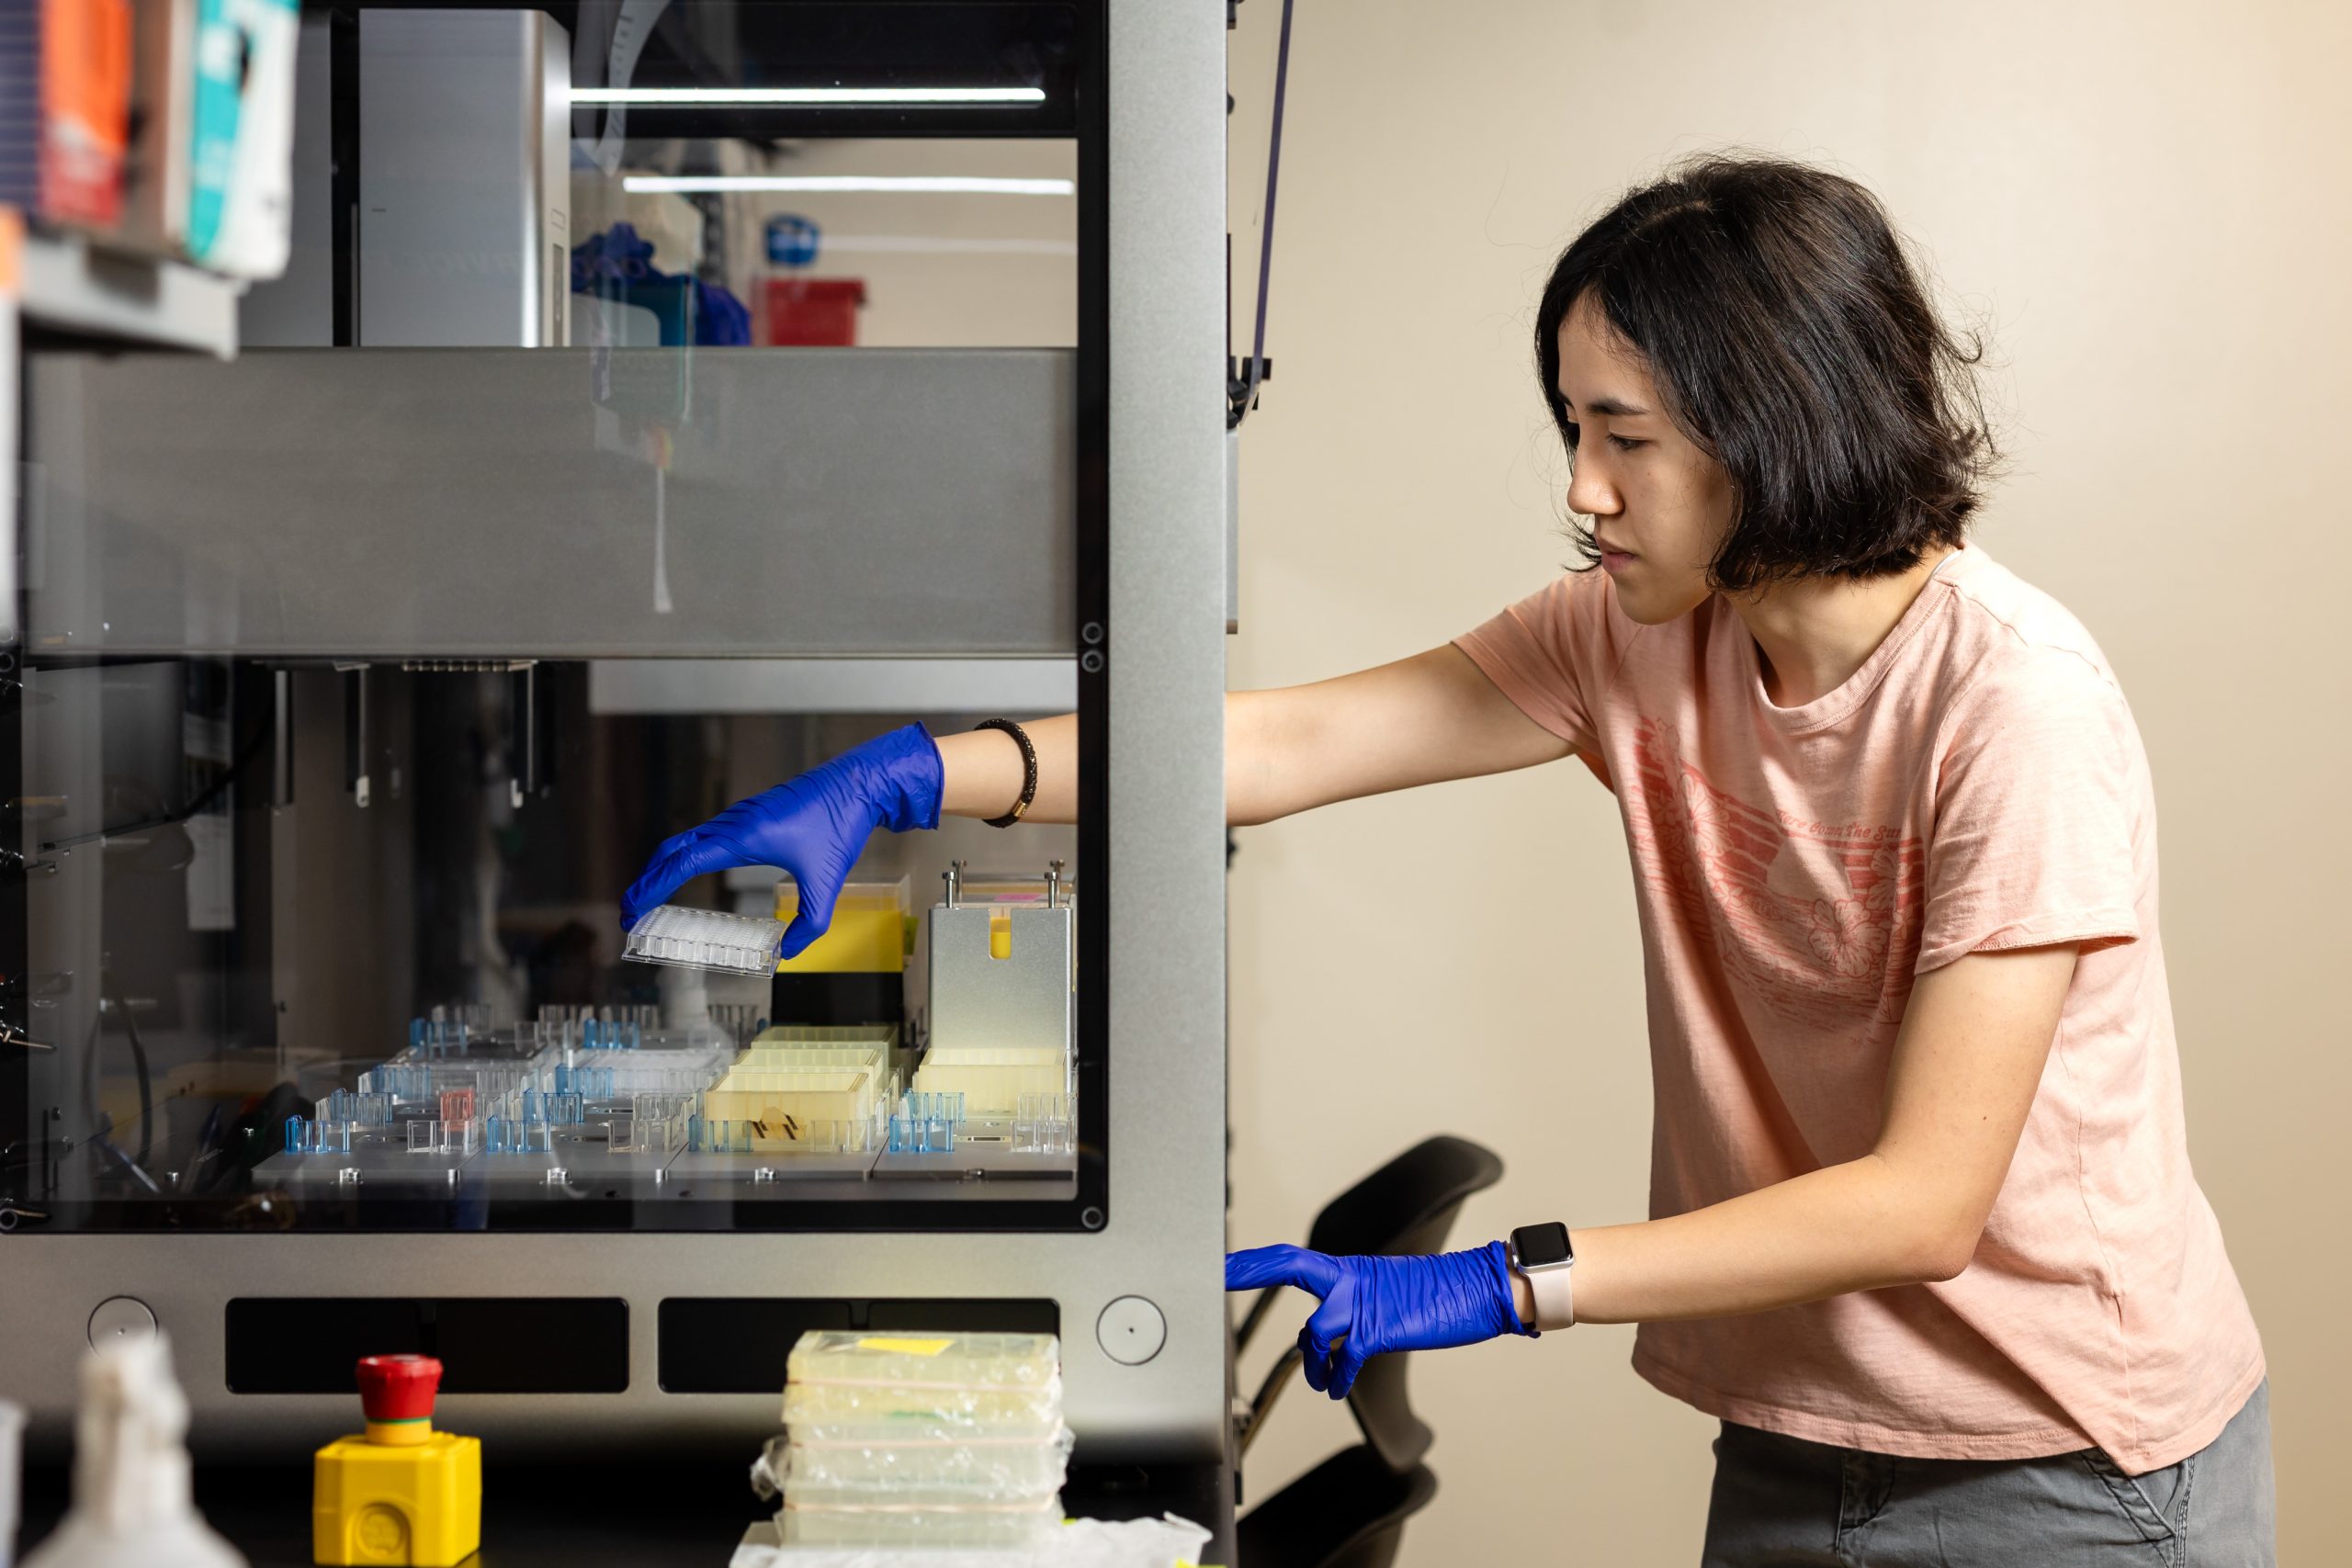
POLYGON ((804 1333, 753 1467, 786 1547, 1033 1547, 1070 1429, 1049 1333, 804 1333))

